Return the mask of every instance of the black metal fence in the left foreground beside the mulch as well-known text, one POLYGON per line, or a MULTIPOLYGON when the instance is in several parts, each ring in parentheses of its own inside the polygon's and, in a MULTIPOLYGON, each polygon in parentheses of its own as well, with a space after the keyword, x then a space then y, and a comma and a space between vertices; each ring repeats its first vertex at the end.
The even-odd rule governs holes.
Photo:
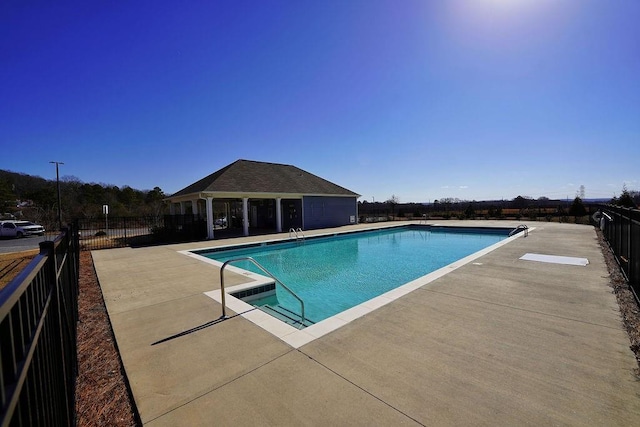
POLYGON ((78 234, 63 230, 0 291, 0 425, 74 425, 78 234))

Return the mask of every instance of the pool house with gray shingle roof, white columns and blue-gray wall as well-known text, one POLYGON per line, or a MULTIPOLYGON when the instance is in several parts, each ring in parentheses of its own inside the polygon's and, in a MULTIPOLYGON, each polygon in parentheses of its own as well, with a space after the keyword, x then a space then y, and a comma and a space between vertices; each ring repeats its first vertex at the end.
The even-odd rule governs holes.
POLYGON ((359 194, 291 165, 237 160, 167 198, 171 215, 216 227, 282 232, 355 224, 359 194))

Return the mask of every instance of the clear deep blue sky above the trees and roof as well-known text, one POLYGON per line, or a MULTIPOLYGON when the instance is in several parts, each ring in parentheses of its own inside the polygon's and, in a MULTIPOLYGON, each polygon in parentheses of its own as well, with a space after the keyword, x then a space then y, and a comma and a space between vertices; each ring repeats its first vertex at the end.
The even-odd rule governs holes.
POLYGON ((639 23, 638 0, 5 0, 0 169, 169 194, 242 158, 368 201, 611 197, 640 190, 639 23))

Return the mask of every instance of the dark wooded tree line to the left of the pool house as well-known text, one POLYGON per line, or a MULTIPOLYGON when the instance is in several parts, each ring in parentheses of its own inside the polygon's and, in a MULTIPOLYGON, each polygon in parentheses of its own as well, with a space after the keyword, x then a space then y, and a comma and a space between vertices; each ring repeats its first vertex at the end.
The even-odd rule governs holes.
MULTIPOLYGON (((78 218, 103 216, 155 216, 166 211, 162 189, 136 190, 103 183, 84 183, 75 176, 60 178, 62 223, 78 218)), ((55 180, 0 170, 0 214, 28 219, 55 229, 58 219, 58 191, 55 180)))

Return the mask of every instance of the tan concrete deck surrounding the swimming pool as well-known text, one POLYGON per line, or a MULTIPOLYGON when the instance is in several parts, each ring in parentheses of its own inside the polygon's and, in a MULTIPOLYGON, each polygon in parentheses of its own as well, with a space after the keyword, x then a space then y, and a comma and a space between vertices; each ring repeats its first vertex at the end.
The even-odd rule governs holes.
POLYGON ((178 253, 286 233, 92 254, 145 425, 640 424, 637 364, 593 227, 524 223, 528 237, 297 349, 241 316, 215 322, 204 292, 219 270, 178 253))

